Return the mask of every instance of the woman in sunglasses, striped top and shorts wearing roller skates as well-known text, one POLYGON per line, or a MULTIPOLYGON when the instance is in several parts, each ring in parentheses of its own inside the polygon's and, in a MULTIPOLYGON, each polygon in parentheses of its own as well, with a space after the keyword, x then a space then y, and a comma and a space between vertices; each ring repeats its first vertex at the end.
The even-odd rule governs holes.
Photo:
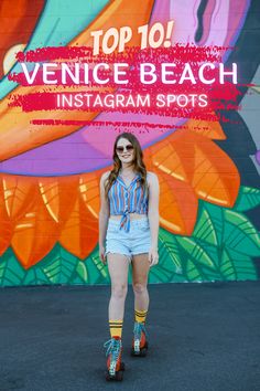
MULTIPOLYGON (((134 337, 132 355, 145 356, 144 327, 149 307, 148 274, 159 260, 159 181, 147 172, 143 154, 136 136, 120 134, 113 145, 113 169, 100 179, 99 256, 111 278, 107 350, 107 379, 121 378, 121 335, 128 267, 132 263, 134 292, 134 337), (106 240, 106 246, 105 246, 106 240), (119 374, 120 373, 120 374, 119 374)), ((121 380, 121 379, 120 379, 121 380)))

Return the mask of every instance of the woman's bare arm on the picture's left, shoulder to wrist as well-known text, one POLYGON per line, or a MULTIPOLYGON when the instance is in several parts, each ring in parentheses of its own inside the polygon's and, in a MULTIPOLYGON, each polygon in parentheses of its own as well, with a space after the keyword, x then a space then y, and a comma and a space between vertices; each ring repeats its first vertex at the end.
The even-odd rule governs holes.
POLYGON ((109 171, 106 171, 100 178, 99 247, 105 245, 108 219, 110 215, 109 201, 105 197, 105 181, 108 176, 109 171))

